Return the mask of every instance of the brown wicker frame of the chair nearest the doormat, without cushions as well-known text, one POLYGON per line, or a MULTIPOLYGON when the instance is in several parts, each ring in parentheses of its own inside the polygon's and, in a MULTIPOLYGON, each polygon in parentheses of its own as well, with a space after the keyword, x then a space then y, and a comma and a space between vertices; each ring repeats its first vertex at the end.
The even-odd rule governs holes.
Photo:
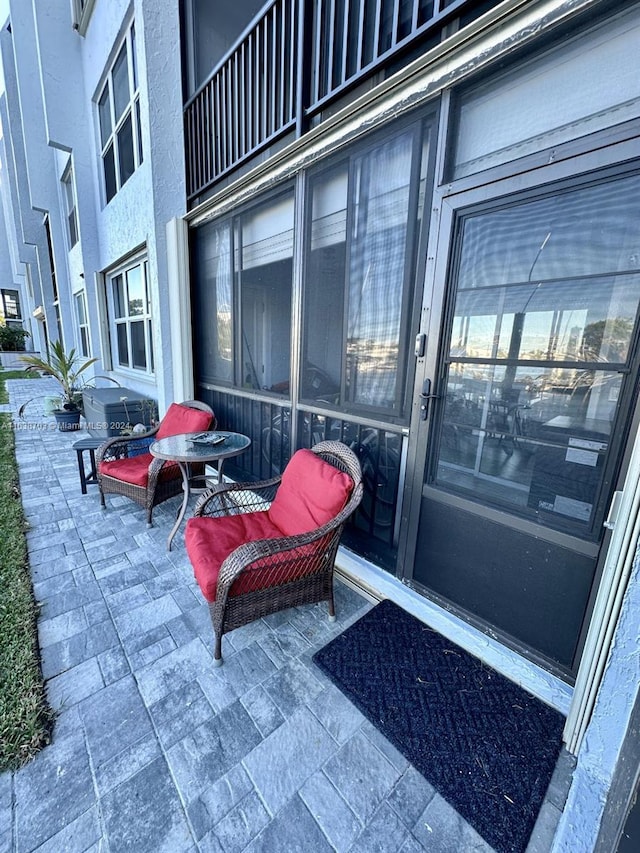
MULTIPOLYGON (((362 472, 358 457, 342 442, 323 441, 312 451, 351 477, 350 498, 335 518, 316 530, 281 539, 246 542, 226 558, 218 575, 216 600, 209 603, 215 634, 215 666, 222 664, 223 635, 263 616, 327 601, 329 619, 335 619, 334 563, 344 524, 362 500, 362 472), (234 584, 248 572, 261 572, 264 588, 231 594, 234 584)), ((257 483, 214 486, 196 503, 194 517, 216 518, 264 510, 275 497, 280 481, 281 477, 274 477, 257 483)))

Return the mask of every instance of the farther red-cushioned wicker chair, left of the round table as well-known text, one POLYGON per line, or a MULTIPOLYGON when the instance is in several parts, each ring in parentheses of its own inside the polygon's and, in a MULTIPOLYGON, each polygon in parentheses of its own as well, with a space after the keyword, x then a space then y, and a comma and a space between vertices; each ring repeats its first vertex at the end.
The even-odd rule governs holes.
MULTIPOLYGON (((156 459, 148 452, 149 439, 215 429, 216 419, 206 403, 172 403, 155 429, 107 439, 96 451, 100 504, 107 494, 124 495, 147 511, 151 526, 154 506, 182 494, 182 475, 175 462, 156 459)), ((194 471, 193 473, 202 473, 194 471)))

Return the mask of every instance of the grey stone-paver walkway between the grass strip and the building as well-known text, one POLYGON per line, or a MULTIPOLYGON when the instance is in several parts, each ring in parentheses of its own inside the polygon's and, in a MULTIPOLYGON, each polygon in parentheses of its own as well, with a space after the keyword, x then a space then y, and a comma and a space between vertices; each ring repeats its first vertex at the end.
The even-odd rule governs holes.
MULTIPOLYGON (((7 383, 7 411, 48 380, 7 383)), ((47 392, 48 393, 48 392, 47 392)), ((213 669, 208 609, 181 533, 179 500, 101 510, 82 495, 53 418, 18 423, 42 668, 53 743, 0 775, 0 853, 414 853, 491 848, 314 666, 311 656, 371 606, 336 584, 223 640, 213 669)), ((561 761, 529 845, 549 849, 566 795, 561 761)))

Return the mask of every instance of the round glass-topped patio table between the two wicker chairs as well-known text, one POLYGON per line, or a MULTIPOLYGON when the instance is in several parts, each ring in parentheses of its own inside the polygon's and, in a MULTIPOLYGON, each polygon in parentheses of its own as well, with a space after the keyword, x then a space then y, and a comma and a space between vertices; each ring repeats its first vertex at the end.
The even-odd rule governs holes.
MULTIPOLYGON (((225 432, 224 430, 214 430, 210 433, 188 432, 181 435, 170 435, 167 438, 161 438, 153 442, 149 448, 149 453, 158 459, 177 462, 182 474, 182 506, 167 540, 168 551, 171 550, 173 537, 182 524, 182 519, 189 504, 189 497, 196 491, 193 484, 198 479, 203 479, 202 475, 192 476, 190 466, 197 463, 215 464, 218 473, 218 482, 221 483, 222 466, 225 459, 239 456, 241 453, 244 453, 250 444, 251 439, 249 436, 242 435, 239 432, 225 432), (216 436, 223 440, 217 444, 208 444, 205 443, 206 439, 204 439, 204 436, 216 436), (196 441, 197 437, 202 437, 203 440, 196 441)), ((197 491, 204 490, 198 489, 197 491)))

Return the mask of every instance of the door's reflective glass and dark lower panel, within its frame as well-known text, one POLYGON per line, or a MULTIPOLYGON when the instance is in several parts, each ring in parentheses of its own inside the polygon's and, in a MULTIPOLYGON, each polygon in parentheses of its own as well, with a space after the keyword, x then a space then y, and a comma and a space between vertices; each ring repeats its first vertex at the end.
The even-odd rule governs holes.
POLYGON ((414 579, 572 670, 638 372, 640 179, 455 239, 414 579))

